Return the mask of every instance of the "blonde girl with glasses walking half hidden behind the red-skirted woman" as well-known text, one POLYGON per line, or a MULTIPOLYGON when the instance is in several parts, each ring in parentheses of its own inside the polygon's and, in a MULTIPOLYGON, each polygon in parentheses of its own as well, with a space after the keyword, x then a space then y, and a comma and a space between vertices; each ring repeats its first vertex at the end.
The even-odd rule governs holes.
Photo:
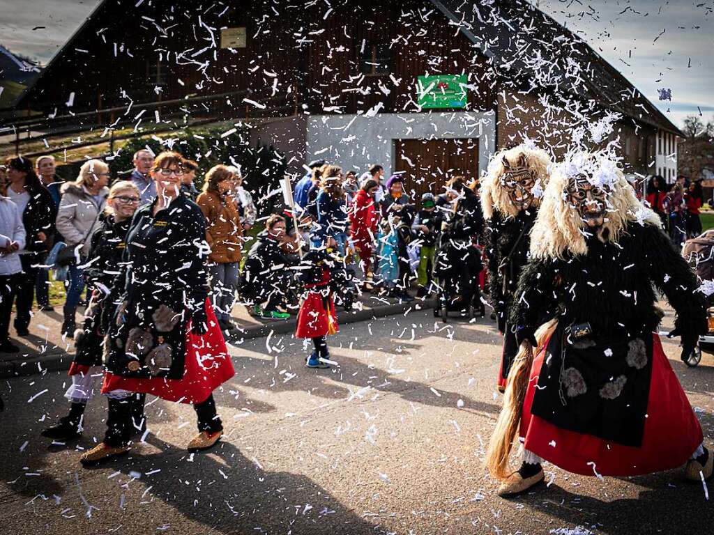
MULTIPOLYGON (((72 384, 64 394, 70 402, 69 414, 42 432, 44 437, 61 442, 81 434, 84 409, 94 397, 96 381, 101 379, 104 371, 101 357, 102 342, 110 320, 106 313, 111 308, 108 297, 119 275, 131 217, 139 207, 139 188, 129 180, 120 180, 109 190, 106 205, 101 227, 91 236, 91 250, 84 270, 91 298, 84 312, 84 325, 74 332, 76 352, 69 369, 72 384)), ((131 412, 132 434, 143 432, 143 394, 134 397, 131 412)))

